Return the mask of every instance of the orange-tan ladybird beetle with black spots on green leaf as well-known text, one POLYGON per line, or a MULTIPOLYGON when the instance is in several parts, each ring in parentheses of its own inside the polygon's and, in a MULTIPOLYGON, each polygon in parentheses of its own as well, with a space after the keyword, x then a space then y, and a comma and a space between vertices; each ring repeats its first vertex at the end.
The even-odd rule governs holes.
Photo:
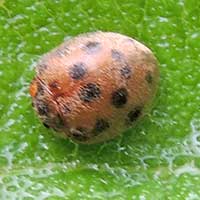
POLYGON ((30 85, 44 126, 79 143, 122 133, 144 115, 159 80, 157 60, 113 32, 81 34, 45 54, 30 85))

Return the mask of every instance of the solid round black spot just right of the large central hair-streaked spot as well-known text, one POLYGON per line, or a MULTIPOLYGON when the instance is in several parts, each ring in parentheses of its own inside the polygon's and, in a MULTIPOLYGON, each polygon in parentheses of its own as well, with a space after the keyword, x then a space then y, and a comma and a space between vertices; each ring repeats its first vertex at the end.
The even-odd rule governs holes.
POLYGON ((121 108, 127 103, 128 92, 126 88, 119 88, 112 93, 111 102, 116 108, 121 108))

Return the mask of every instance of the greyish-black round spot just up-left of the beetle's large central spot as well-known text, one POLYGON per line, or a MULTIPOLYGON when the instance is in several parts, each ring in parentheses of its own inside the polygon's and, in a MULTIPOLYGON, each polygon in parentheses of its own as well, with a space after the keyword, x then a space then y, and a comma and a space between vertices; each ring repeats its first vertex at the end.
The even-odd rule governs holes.
POLYGON ((86 71, 87 69, 85 64, 80 62, 73 65, 73 67, 70 69, 69 74, 73 79, 79 80, 83 78, 83 76, 86 74, 86 71))

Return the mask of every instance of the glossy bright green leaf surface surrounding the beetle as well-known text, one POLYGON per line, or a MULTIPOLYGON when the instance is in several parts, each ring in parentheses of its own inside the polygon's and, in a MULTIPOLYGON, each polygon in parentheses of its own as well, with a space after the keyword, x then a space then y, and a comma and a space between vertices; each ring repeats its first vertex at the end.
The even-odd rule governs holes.
POLYGON ((200 1, 0 1, 0 199, 200 199, 200 1), (53 136, 28 87, 42 54, 82 32, 152 49, 160 87, 122 137, 75 145, 53 136))

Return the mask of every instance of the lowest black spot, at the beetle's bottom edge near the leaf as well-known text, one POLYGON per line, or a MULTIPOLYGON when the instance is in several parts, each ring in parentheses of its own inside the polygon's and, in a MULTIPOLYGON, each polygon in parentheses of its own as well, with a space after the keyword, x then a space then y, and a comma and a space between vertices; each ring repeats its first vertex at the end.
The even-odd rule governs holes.
POLYGON ((77 127, 76 129, 71 129, 71 137, 77 141, 87 141, 88 135, 87 130, 83 127, 77 127))

